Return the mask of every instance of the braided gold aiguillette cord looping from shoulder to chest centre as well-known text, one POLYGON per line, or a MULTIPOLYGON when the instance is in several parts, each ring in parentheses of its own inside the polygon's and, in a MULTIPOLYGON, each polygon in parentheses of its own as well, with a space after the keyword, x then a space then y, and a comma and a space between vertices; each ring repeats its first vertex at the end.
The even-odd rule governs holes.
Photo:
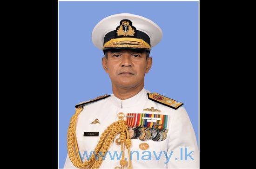
POLYGON ((74 115, 70 119, 69 127, 67 130, 67 153, 68 156, 73 163, 73 165, 77 168, 80 169, 98 169, 101 166, 103 157, 105 156, 106 152, 108 151, 110 144, 113 142, 115 136, 118 133, 120 134, 120 140, 121 140, 121 150, 122 150, 122 159, 120 161, 121 167, 124 167, 125 165, 122 165, 124 163, 127 163, 124 160, 124 150, 123 150, 123 145, 128 149, 128 155, 129 155, 129 166, 128 168, 131 168, 131 161, 130 161, 130 145, 131 145, 131 140, 129 139, 129 134, 128 134, 128 127, 126 124, 125 120, 118 120, 108 126, 106 130, 101 134, 100 140, 95 147, 94 151, 95 153, 92 154, 90 159, 86 162, 82 162, 80 154, 79 154, 79 149, 78 149, 78 144, 76 141, 76 135, 75 135, 75 129, 76 129, 76 119, 78 115, 81 113, 83 110, 83 107, 78 107, 75 110, 74 115), (101 152, 99 154, 99 152, 101 152), (96 157, 95 157, 96 155, 96 157), (125 161, 125 162, 124 162, 125 161))

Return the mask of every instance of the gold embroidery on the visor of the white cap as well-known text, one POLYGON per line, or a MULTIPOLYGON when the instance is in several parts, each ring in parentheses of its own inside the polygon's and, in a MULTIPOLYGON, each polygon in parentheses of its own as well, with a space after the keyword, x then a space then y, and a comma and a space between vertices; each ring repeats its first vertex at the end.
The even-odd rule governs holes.
POLYGON ((103 46, 103 50, 108 47, 130 47, 130 48, 143 48, 150 49, 150 45, 143 39, 137 38, 116 38, 106 42, 103 46))

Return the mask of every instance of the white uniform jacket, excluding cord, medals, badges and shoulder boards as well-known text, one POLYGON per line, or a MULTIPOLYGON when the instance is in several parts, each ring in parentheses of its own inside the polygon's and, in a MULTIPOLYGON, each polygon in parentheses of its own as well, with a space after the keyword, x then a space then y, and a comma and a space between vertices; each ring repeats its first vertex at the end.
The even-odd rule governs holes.
MULTIPOLYGON (((168 115, 167 138, 160 142, 131 139, 132 167, 198 168, 198 147, 195 132, 185 108, 180 107, 175 110, 149 100, 148 92, 143 88, 134 97, 126 100, 120 100, 114 94, 111 94, 110 97, 84 106, 77 118, 76 126, 77 143, 83 162, 87 161, 87 156, 89 157, 90 153, 94 151, 102 132, 108 125, 119 120, 117 116, 119 112, 123 112, 125 115, 127 113, 149 113, 168 115), (161 110, 161 112, 143 111, 143 109, 151 107, 161 110), (96 118, 99 119, 100 123, 91 124, 96 118), (84 132, 99 132, 99 136, 84 136, 84 132), (141 143, 147 143, 149 148, 141 150, 139 148, 141 143)), ((100 168, 113 169, 116 166, 120 167, 119 161, 121 158, 118 159, 117 156, 121 155, 121 146, 115 143, 119 135, 115 136, 100 168)), ((125 150, 125 157, 128 161, 127 149, 125 150)), ((75 168, 68 156, 64 168, 75 168)))

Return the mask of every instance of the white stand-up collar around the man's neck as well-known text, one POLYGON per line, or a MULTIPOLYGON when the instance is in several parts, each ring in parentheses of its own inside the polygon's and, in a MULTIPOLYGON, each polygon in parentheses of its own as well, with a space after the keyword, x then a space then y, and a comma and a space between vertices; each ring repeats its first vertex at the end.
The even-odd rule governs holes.
POLYGON ((144 88, 135 96, 130 97, 128 99, 125 100, 121 100, 117 97, 115 97, 115 95, 112 93, 111 94, 111 100, 113 101, 113 103, 119 107, 119 108, 128 108, 128 107, 132 107, 135 106, 137 104, 140 104, 142 100, 145 100, 148 98, 148 93, 149 91, 146 91, 144 88))

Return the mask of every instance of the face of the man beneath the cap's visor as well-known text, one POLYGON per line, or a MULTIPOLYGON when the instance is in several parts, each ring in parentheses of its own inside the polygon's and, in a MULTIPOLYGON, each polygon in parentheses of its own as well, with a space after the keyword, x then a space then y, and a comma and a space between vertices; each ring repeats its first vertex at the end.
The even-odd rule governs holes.
POLYGON ((152 58, 146 59, 146 52, 119 50, 107 54, 108 58, 102 58, 102 65, 112 84, 122 88, 144 84, 145 73, 152 65, 152 58))

